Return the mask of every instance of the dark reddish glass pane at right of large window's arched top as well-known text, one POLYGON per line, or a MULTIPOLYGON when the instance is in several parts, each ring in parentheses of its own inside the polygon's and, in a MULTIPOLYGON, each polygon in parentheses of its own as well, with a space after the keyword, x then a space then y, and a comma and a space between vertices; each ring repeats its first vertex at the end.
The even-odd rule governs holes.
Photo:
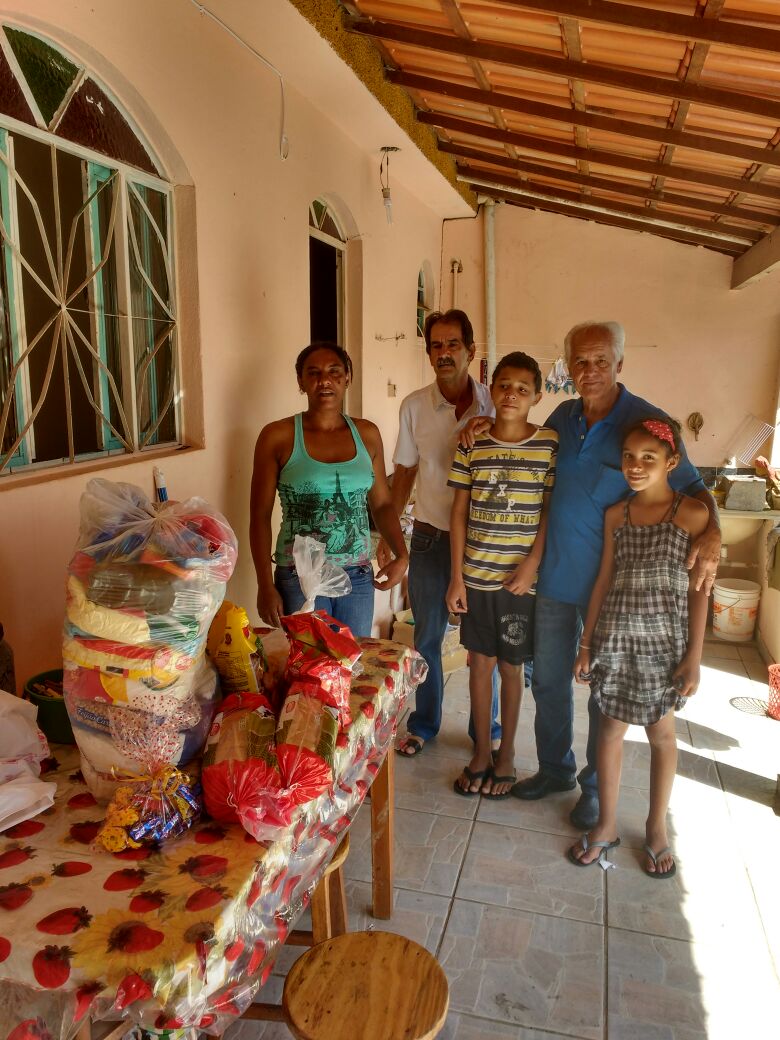
POLYGON ((76 90, 57 124, 56 133, 102 155, 157 174, 149 153, 114 103, 92 79, 76 90))

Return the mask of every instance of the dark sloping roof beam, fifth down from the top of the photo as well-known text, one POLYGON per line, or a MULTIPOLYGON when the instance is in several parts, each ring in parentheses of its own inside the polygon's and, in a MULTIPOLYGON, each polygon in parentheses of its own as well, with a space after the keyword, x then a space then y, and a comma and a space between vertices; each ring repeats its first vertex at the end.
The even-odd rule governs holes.
MULTIPOLYGON (((573 170, 551 170, 549 166, 526 162, 525 159, 509 159, 506 156, 494 155, 492 152, 480 152, 478 149, 467 148, 465 145, 459 145, 454 141, 439 141, 439 151, 446 152, 448 155, 454 155, 456 158, 472 159, 474 162, 489 162, 494 166, 514 170, 529 177, 552 177, 568 184, 582 184, 587 187, 600 188, 603 191, 614 191, 617 194, 642 199, 648 203, 665 202, 671 206, 685 206, 690 209, 702 210, 705 213, 717 213, 722 216, 731 216, 735 219, 752 220, 754 224, 774 225, 780 223, 780 213, 764 213, 760 209, 748 209, 745 206, 709 202, 706 199, 697 199, 696 196, 677 194, 674 191, 661 191, 658 188, 643 188, 623 181, 612 181, 606 177, 586 176, 573 170)), ((461 168, 460 164, 459 168, 461 168)), ((482 173, 492 172, 482 171, 482 173)))

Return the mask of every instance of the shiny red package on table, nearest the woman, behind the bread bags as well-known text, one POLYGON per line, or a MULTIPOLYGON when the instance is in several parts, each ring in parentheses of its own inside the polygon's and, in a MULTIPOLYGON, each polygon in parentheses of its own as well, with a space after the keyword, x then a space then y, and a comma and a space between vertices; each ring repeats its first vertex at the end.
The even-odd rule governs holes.
POLYGON ((353 669, 361 654, 355 636, 322 610, 288 615, 282 625, 290 641, 287 682, 311 680, 317 686, 314 696, 335 708, 339 727, 348 726, 353 669))

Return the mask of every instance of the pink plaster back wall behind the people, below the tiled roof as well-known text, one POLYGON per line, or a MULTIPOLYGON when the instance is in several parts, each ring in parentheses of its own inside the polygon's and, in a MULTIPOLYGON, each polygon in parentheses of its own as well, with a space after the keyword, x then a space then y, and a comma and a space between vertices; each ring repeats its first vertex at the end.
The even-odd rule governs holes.
MULTIPOLYGON (((719 465, 748 413, 776 421, 780 374, 780 272, 729 288, 731 260, 709 250, 592 222, 497 206, 497 353, 524 349, 540 361, 563 353, 579 321, 613 318, 626 330, 621 380, 683 423, 704 416, 693 461, 719 465), (654 348, 650 348, 654 347, 654 348)), ((442 298, 450 301, 449 261, 459 257, 459 303, 485 340, 483 219, 447 220, 442 298)), ((542 363, 547 374, 549 362, 542 363)), ((563 399, 544 394, 543 421, 563 399)), ((780 593, 764 587, 761 639, 780 660, 780 593)))

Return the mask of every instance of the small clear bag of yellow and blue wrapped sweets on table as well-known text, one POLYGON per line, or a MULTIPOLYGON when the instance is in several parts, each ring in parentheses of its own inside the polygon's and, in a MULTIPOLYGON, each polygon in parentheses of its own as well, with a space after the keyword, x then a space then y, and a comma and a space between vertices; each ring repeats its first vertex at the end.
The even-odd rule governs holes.
POLYGON ((118 774, 118 779, 119 789, 95 838, 107 852, 159 846, 183 834, 201 815, 199 785, 173 765, 142 776, 118 774))

